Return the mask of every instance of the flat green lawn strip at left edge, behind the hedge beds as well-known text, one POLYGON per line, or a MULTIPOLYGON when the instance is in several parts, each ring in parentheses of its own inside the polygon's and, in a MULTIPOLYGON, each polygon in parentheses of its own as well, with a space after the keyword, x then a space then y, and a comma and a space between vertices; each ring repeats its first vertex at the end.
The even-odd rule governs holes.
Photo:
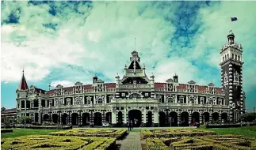
POLYGON ((13 133, 1 133, 2 138, 21 137, 25 135, 49 135, 49 133, 63 129, 13 129, 13 133))

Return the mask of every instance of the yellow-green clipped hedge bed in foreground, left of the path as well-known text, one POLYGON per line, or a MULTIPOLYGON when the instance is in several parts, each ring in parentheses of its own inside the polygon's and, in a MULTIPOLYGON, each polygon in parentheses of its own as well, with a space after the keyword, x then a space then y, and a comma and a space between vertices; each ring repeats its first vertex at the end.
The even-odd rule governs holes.
POLYGON ((23 136, 1 141, 2 149, 106 149, 115 144, 115 138, 23 136))

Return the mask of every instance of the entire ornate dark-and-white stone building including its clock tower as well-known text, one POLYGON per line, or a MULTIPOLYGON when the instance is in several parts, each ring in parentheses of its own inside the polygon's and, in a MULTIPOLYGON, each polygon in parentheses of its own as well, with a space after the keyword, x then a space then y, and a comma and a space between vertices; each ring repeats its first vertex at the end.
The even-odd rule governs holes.
POLYGON ((237 122, 245 111, 242 82, 242 46, 230 33, 222 47, 222 87, 181 84, 178 75, 166 82, 155 82, 146 74, 139 54, 132 51, 124 76, 105 83, 97 76, 92 84, 76 82, 72 87, 57 85, 43 90, 28 87, 24 73, 17 88, 17 117, 31 116, 35 122, 54 122, 73 126, 124 126, 128 120, 136 126, 189 126, 191 122, 237 122))

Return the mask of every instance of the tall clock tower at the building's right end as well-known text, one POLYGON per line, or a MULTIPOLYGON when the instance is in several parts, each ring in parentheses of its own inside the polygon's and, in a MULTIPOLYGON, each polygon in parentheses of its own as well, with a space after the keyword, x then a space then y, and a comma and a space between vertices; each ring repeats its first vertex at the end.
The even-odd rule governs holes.
POLYGON ((235 43, 235 35, 229 32, 227 44, 220 51, 221 82, 225 95, 225 104, 230 108, 231 122, 237 122, 245 111, 243 99, 243 47, 235 43))

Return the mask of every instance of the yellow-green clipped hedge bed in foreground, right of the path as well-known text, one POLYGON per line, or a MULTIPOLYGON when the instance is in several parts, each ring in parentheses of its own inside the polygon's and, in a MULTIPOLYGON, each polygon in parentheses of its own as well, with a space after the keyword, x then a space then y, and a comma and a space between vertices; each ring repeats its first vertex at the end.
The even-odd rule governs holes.
POLYGON ((147 149, 256 149, 256 139, 239 135, 147 138, 147 149))

